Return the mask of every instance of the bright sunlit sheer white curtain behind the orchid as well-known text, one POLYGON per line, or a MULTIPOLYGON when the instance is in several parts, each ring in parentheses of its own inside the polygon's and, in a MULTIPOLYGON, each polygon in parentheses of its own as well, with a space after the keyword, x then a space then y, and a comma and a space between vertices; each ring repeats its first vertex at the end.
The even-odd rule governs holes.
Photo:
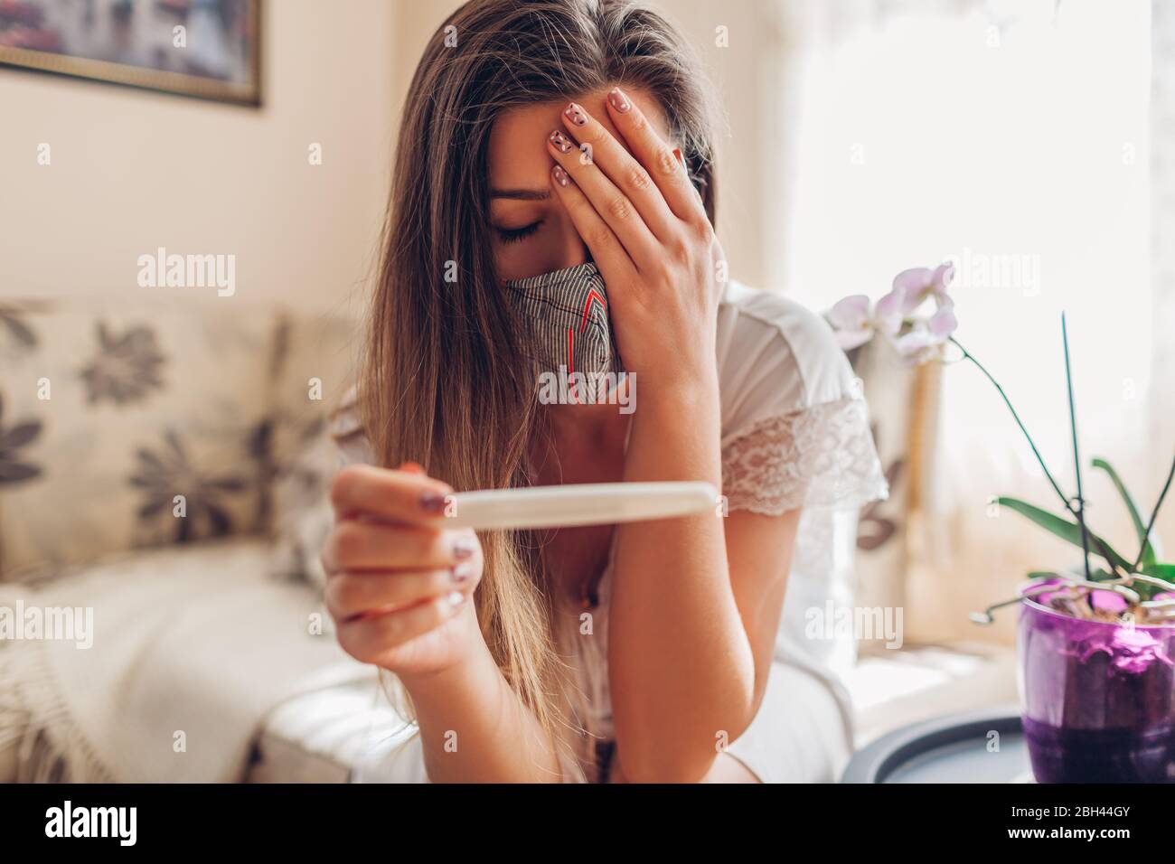
MULTIPOLYGON (((1157 6, 1169 40, 1170 4, 1157 6)), ((1075 494, 1066 310, 1082 460, 1104 456, 1149 509, 1175 446, 1162 418, 1171 413, 1175 268, 1157 222, 1156 264, 1168 256, 1157 287, 1150 260, 1150 4, 771 8, 778 86, 765 98, 778 106, 770 134, 785 143, 764 172, 764 225, 776 242, 766 281, 827 308, 846 294, 880 296, 906 267, 954 260, 960 341, 1003 383, 1050 471, 1075 494)), ((1164 81, 1169 94, 1169 71, 1164 81)), ((1169 105, 1155 122, 1169 130, 1169 105)), ((1170 239, 1175 165, 1154 155, 1167 201, 1155 219, 1170 239)), ((981 630, 967 612, 1003 598, 1029 569, 1076 558, 989 503, 1015 495, 1061 507, 991 384, 956 364, 942 370, 938 393, 906 638, 1007 639, 1014 616, 981 630)), ((1095 527, 1134 550, 1113 488, 1090 470, 1083 477, 1095 527)))

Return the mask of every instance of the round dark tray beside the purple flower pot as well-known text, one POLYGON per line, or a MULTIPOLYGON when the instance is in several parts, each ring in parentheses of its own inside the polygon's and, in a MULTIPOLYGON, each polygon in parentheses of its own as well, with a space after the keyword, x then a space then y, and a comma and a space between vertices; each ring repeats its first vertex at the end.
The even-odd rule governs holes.
POLYGON ((1015 706, 936 717, 884 735, 850 759, 841 783, 1034 783, 1015 706), (999 732, 999 751, 988 750, 999 732))

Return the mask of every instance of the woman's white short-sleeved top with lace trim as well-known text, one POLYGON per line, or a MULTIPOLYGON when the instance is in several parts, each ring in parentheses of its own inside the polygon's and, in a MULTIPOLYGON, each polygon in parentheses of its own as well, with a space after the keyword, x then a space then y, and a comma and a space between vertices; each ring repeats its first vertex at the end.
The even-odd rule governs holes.
MULTIPOLYGON (((774 661, 825 682, 852 741, 853 709, 844 676, 857 642, 835 627, 853 604, 859 508, 888 495, 870 433, 860 382, 828 323, 793 300, 727 283, 718 309, 723 494, 731 513, 780 515, 803 508, 774 661)), ((371 461, 356 424, 354 391, 334 418, 344 455, 371 461)), ((595 638, 577 639, 576 664, 588 697, 580 723, 612 739, 607 686, 611 563, 592 610, 595 638)), ((783 734, 783 730, 781 730, 783 734)), ((583 779, 584 766, 564 765, 583 779)))

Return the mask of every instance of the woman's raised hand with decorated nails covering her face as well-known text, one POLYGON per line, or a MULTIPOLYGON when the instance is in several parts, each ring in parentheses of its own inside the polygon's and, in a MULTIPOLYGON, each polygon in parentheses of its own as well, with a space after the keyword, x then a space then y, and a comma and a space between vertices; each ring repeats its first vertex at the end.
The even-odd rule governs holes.
POLYGON ((580 105, 548 136, 551 187, 607 284, 625 368, 649 388, 716 380, 721 249, 678 153, 623 91, 606 100, 620 143, 580 105))

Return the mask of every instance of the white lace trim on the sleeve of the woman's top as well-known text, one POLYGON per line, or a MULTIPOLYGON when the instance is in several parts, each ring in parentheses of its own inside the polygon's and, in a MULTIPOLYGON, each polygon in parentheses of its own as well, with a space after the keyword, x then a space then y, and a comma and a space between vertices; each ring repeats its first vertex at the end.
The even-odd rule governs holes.
POLYGON ((888 496, 865 401, 853 396, 766 417, 723 448, 731 510, 858 508, 888 496))

